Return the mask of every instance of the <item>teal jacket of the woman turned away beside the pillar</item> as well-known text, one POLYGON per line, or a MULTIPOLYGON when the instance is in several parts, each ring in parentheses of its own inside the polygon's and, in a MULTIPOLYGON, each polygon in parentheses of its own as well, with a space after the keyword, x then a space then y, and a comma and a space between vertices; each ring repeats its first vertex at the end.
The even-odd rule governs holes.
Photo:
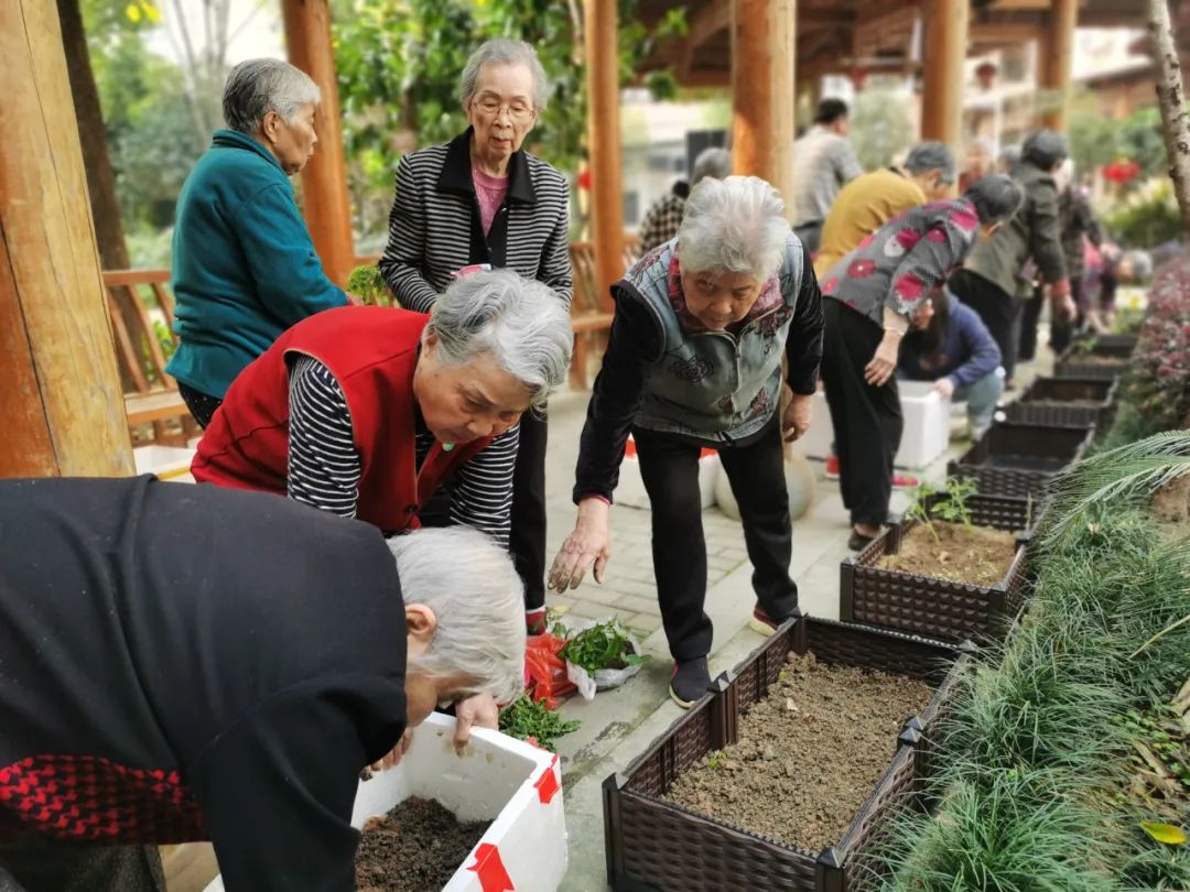
POLYGON ((347 303, 322 272, 289 178, 244 133, 215 131, 182 187, 174 295, 180 344, 165 371, 220 400, 289 326, 347 303))

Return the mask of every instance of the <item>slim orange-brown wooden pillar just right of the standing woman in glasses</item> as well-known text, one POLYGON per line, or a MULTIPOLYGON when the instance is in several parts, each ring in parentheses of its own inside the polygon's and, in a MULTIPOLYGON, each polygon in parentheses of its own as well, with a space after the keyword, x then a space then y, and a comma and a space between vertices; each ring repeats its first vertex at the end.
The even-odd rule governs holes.
POLYGON ((613 308, 612 284, 624 276, 624 180, 620 170, 620 59, 612 0, 585 0, 587 146, 591 172, 595 294, 613 308))

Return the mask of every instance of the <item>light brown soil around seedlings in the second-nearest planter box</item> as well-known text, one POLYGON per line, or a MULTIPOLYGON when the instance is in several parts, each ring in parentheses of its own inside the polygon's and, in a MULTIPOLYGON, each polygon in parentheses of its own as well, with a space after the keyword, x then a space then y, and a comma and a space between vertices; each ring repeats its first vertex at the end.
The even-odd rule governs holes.
POLYGON ((896 554, 885 554, 877 566, 902 573, 932 576, 972 585, 1001 582, 1016 557, 1016 536, 1003 529, 934 521, 938 541, 925 523, 902 538, 896 554))

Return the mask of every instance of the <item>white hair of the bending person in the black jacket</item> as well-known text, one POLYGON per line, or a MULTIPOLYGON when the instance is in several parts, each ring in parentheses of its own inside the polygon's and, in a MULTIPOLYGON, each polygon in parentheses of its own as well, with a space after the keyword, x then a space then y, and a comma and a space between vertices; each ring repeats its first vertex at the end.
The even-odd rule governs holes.
POLYGON ((406 671, 465 676, 497 702, 525 689, 525 585, 508 553, 469 527, 419 529, 388 540, 406 604, 425 604, 438 628, 406 671))

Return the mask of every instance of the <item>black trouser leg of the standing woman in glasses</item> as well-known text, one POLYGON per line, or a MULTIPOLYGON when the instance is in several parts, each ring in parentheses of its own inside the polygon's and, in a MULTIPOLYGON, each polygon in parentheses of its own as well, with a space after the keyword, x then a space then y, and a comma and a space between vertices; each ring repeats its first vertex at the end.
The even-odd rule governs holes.
POLYGON ((513 470, 512 528, 508 551, 525 583, 525 609, 545 607, 545 446, 549 421, 521 416, 520 444, 513 470))

